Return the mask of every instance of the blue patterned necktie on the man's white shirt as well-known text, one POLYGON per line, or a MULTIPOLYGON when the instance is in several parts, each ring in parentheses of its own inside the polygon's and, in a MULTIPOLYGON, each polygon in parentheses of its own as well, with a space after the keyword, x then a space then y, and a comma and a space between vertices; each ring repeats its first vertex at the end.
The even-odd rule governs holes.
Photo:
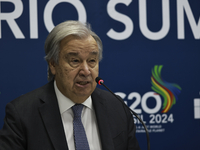
POLYGON ((81 113, 83 110, 83 105, 76 104, 72 107, 72 110, 74 112, 73 127, 74 127, 74 142, 76 150, 89 150, 90 149, 89 144, 81 121, 81 113))

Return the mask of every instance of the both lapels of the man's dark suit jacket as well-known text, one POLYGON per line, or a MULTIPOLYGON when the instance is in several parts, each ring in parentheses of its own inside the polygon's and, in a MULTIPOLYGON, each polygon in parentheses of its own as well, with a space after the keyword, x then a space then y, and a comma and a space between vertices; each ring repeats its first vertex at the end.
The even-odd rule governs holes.
MULTIPOLYGON (((39 107, 39 112, 51 142, 56 150, 68 150, 53 82, 48 83, 46 87, 44 87, 42 93, 43 96, 41 100, 43 104, 39 107)), ((96 113, 102 149, 114 150, 109 118, 106 113, 106 100, 103 99, 100 92, 95 89, 92 94, 92 101, 96 113)))

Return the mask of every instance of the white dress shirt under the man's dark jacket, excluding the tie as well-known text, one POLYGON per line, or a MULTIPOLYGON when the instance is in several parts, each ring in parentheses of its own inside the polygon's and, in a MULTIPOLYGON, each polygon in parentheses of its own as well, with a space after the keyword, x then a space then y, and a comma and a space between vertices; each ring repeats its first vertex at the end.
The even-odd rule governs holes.
MULTIPOLYGON (((69 150, 75 150, 74 136, 73 136, 73 111, 72 106, 75 105, 73 101, 64 96, 57 88, 56 81, 54 81, 55 93, 58 99, 58 106, 65 130, 65 136, 69 150)), ((87 140, 90 150, 101 150, 100 136, 96 120, 95 111, 92 105, 91 96, 83 103, 83 111, 81 115, 82 123, 85 128, 87 140)))

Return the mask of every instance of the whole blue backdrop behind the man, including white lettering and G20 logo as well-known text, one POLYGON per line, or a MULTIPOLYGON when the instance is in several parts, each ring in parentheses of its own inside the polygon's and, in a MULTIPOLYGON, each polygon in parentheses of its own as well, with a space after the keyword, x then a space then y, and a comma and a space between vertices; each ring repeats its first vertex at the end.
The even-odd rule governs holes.
POLYGON ((44 41, 65 20, 100 36, 100 77, 144 120, 152 150, 200 149, 199 0, 0 0, 0 128, 8 102, 48 82, 44 41))

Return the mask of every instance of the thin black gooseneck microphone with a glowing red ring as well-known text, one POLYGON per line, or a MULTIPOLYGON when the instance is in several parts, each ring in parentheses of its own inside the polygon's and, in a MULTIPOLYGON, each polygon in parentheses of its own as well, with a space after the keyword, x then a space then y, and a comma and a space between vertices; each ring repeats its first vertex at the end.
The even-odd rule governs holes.
POLYGON ((99 84, 99 85, 103 85, 115 98, 117 98, 125 107, 127 107, 129 109, 129 111, 142 123, 145 131, 146 131, 146 136, 147 136, 147 148, 148 150, 150 150, 150 139, 149 139, 149 132, 147 130, 147 127, 145 126, 144 122, 142 121, 142 119, 137 115, 137 113, 135 113, 132 109, 130 109, 122 99, 120 99, 117 95, 115 95, 105 84, 103 79, 101 79, 100 77, 96 77, 95 81, 99 84))

